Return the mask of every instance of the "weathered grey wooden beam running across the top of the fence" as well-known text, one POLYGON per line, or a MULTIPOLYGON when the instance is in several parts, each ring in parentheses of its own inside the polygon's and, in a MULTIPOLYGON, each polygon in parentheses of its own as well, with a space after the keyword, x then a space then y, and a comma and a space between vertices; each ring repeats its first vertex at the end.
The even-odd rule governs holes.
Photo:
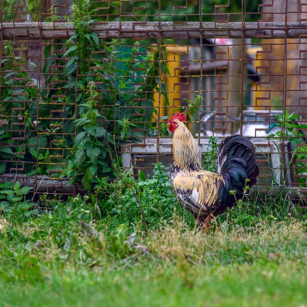
MULTIPOLYGON (((214 23, 189 21, 109 21, 95 23, 93 31, 101 38, 299 38, 307 35, 307 23, 214 23)), ((73 23, 3 23, 0 32, 4 39, 53 39, 71 37, 75 33, 73 23)))

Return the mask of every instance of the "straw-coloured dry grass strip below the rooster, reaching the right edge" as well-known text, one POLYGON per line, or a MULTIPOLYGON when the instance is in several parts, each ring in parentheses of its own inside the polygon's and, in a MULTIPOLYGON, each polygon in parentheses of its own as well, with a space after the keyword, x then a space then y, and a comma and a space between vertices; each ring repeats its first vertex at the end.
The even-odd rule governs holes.
POLYGON ((222 226, 205 235, 186 229, 182 223, 176 225, 152 232, 146 244, 153 254, 167 262, 177 259, 194 265, 252 263, 259 259, 280 262, 305 258, 307 254, 306 228, 296 220, 262 222, 251 231, 227 230, 222 226))

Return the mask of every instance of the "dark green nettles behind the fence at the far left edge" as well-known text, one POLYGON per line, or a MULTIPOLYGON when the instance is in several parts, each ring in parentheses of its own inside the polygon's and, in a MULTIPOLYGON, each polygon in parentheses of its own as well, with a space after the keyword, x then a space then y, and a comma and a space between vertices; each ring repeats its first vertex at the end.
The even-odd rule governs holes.
MULTIPOLYGON (((30 150, 25 148, 34 150, 37 144, 33 124, 37 113, 37 80, 28 78, 28 73, 20 70, 20 66, 33 69, 36 65, 26 61, 25 57, 15 56, 14 45, 12 41, 4 41, 1 60, 0 174, 16 167, 18 162, 36 161, 30 150)), ((25 172, 31 169, 30 163, 25 164, 25 172)))

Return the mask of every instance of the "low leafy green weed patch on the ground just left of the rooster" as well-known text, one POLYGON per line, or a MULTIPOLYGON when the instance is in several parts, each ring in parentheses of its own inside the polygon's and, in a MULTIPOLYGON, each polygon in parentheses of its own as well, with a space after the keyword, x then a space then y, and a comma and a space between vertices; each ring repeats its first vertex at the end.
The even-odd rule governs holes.
MULTIPOLYGON (((165 221, 171 221, 174 210, 183 213, 176 196, 170 189, 169 177, 163 168, 161 163, 157 163, 151 179, 145 179, 144 174, 140 172, 139 182, 131 179, 128 174, 123 174, 123 180, 128 181, 138 195, 150 228, 157 228, 165 221)), ((140 208, 135 196, 122 180, 117 179, 108 183, 105 178, 96 186, 96 191, 99 191, 98 194, 101 195, 100 206, 103 217, 112 216, 115 225, 125 224, 132 229, 139 228, 140 208)), ((184 214, 188 223, 193 223, 193 218, 188 213, 184 214)))

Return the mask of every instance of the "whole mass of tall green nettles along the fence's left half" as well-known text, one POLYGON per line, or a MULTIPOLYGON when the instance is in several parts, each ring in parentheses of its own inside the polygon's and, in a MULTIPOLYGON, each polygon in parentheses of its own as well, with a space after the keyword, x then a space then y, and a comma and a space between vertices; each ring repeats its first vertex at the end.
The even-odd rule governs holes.
MULTIPOLYGON (((81 181, 90 190, 97 176, 113 176, 106 142, 116 150, 121 142, 131 138, 139 141, 157 135, 157 122, 151 121, 158 117, 153 96, 160 86, 166 97, 165 85, 159 78, 162 71, 167 73, 159 59, 165 47, 161 41, 152 54, 135 42, 118 61, 119 42, 99 42, 92 31, 95 19, 91 14, 95 10, 91 10, 90 1, 83 1, 81 8, 73 5, 71 10, 75 34, 68 40, 54 39, 49 44, 46 41, 42 74, 45 85, 40 91, 37 80, 27 79, 27 72, 18 71, 18 66, 14 66, 14 62, 22 59, 14 57, 13 43, 4 45, 0 173, 9 169, 14 158, 18 163, 31 162, 24 168, 28 176, 52 173, 53 177, 72 178, 70 183, 81 181), (13 93, 13 77, 18 78, 14 85, 19 82, 20 95, 13 93), (33 86, 24 86, 28 82, 33 86), (24 105, 25 111, 12 110, 24 105), (25 121, 25 139, 15 140, 13 144, 14 133, 6 131, 12 122, 18 121, 25 121), (24 148, 25 152, 21 152, 24 148), (15 156, 18 150, 20 153, 15 156)), ((53 11, 46 21, 57 18, 53 11)), ((16 133, 20 134, 17 130, 16 133)))

